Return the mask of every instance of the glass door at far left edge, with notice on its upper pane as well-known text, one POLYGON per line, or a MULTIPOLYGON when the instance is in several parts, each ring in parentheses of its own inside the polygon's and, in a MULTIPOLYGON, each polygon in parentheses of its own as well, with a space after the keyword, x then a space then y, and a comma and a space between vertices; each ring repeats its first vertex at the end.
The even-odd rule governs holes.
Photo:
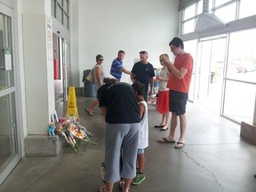
POLYGON ((12 18, 0 12, 0 184, 21 158, 15 95, 12 18))

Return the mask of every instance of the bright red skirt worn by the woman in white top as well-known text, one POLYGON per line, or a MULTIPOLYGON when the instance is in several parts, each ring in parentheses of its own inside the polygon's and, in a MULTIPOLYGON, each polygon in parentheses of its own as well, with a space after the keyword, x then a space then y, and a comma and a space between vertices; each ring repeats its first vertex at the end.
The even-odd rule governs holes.
POLYGON ((169 112, 169 90, 165 92, 158 91, 156 110, 163 114, 169 112))

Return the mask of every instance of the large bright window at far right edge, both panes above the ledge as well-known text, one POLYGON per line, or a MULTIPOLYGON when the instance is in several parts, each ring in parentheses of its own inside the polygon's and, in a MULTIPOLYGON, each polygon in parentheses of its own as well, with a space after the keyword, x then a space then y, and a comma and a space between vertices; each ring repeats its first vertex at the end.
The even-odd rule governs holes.
POLYGON ((223 115, 252 122, 255 94, 256 29, 231 33, 223 115))

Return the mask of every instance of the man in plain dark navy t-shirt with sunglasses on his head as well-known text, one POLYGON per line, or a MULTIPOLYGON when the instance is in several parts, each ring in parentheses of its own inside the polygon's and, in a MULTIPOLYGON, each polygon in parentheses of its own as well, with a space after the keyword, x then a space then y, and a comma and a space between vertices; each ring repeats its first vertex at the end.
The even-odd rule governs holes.
POLYGON ((131 79, 132 82, 139 81, 145 85, 145 93, 143 94, 144 100, 148 101, 148 94, 152 94, 153 89, 153 77, 155 76, 154 67, 148 62, 148 52, 140 52, 140 61, 136 62, 132 68, 131 79), (150 84, 150 89, 148 92, 148 84, 150 84))

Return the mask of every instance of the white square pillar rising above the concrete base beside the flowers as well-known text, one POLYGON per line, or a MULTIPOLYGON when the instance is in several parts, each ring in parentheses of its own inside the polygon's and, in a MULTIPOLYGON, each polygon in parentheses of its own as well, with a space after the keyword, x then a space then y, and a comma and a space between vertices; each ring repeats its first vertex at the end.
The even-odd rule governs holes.
POLYGON ((23 0, 28 134, 46 134, 55 109, 51 0, 23 0))

